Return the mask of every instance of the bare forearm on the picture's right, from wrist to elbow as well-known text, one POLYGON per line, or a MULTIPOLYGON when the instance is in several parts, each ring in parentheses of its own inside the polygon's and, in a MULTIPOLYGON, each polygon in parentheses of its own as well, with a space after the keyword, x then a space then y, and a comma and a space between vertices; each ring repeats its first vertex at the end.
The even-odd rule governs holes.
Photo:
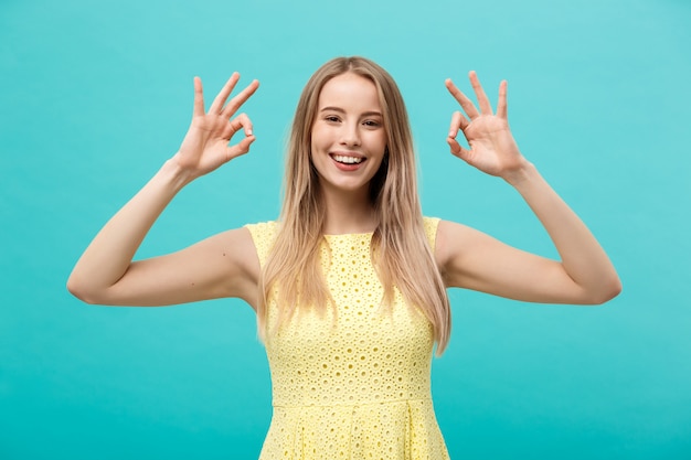
POLYGON ((607 254, 535 167, 527 163, 504 179, 523 196, 546 229, 565 272, 583 290, 584 301, 600 303, 616 296, 620 281, 607 254))

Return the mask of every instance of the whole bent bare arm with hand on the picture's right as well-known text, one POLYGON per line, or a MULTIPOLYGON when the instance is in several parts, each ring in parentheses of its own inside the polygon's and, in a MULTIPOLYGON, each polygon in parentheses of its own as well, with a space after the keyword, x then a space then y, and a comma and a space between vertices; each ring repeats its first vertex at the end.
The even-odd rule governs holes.
POLYGON ((470 83, 479 110, 450 79, 446 87, 465 111, 451 117, 447 142, 468 164, 506 180, 535 213, 561 260, 529 254, 481 232, 442 222, 437 261, 446 284, 533 302, 595 304, 621 289, 609 258, 578 216, 520 152, 507 116, 507 82, 499 86, 497 114, 475 72, 470 83), (461 131, 469 148, 456 140, 461 131))

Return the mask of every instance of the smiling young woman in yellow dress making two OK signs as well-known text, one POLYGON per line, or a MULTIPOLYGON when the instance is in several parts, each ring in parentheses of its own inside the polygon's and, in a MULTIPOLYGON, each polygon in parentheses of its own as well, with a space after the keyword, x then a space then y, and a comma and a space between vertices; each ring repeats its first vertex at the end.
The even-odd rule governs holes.
POLYGON ((238 78, 208 111, 195 78, 180 150, 96 235, 68 289, 99 304, 237 297, 252 306, 274 393, 262 459, 448 458, 429 393, 433 346, 442 353, 450 332, 446 288, 576 304, 619 292, 605 252, 515 145, 506 82, 496 114, 475 73, 479 108, 446 82, 465 111, 451 116, 447 142, 459 159, 515 188, 561 260, 423 217, 403 99, 392 77, 362 57, 332 60, 307 83, 278 221, 132 261, 184 185, 249 150, 252 122, 236 114, 258 83, 226 104, 238 78), (457 142, 459 130, 469 149, 457 142), (230 145, 238 131, 243 139, 230 145))

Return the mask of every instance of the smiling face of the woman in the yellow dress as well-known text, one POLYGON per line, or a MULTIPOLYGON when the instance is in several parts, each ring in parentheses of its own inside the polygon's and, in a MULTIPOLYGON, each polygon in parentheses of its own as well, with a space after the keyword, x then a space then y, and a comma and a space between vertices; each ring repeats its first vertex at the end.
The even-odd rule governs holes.
POLYGON ((325 192, 366 195, 386 149, 374 83, 353 73, 328 81, 311 130, 311 160, 325 192))

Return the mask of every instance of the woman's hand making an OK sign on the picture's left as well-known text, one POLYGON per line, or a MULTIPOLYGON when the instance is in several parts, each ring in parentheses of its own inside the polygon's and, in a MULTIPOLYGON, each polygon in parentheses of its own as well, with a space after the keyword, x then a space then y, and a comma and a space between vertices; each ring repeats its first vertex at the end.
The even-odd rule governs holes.
POLYGON ((237 116, 235 114, 259 87, 259 82, 253 81, 225 104, 238 79, 240 74, 233 73, 209 111, 205 111, 202 81, 194 77, 192 122, 180 150, 173 157, 173 161, 185 172, 188 181, 204 175, 249 151, 249 146, 255 140, 252 133, 252 121, 245 114, 237 116), (241 129, 245 137, 240 142, 230 145, 233 136, 241 129))

